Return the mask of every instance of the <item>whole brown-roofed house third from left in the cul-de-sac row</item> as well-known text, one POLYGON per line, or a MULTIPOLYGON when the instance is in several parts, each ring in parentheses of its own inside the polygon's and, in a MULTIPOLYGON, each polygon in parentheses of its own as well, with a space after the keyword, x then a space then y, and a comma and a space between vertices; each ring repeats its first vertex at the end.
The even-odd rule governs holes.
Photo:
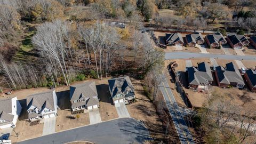
POLYGON ((95 82, 70 86, 69 99, 72 111, 98 108, 99 99, 95 82))

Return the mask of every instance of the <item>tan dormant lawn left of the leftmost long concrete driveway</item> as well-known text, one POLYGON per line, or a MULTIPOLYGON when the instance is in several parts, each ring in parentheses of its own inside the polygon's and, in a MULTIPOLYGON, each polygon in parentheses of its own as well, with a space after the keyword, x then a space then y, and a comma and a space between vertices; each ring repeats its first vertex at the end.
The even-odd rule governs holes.
POLYGON ((30 122, 28 121, 18 121, 15 127, 15 132, 18 133, 18 137, 16 137, 15 132, 12 131, 10 140, 12 140, 14 143, 26 139, 40 137, 43 133, 43 127, 43 123, 30 126, 30 122))

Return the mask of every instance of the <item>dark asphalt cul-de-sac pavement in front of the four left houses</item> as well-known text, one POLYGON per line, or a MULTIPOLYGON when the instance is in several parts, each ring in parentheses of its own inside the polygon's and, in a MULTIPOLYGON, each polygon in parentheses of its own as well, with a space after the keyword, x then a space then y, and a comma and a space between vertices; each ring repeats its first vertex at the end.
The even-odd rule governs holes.
POLYGON ((141 122, 133 118, 119 118, 113 121, 83 126, 18 143, 56 144, 78 140, 106 144, 143 143, 143 141, 150 139, 148 135, 148 130, 141 122))

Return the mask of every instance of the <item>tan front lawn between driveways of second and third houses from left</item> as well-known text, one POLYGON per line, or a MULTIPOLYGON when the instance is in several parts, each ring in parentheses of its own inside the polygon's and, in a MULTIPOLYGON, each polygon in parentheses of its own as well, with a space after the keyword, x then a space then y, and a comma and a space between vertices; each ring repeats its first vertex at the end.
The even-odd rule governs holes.
POLYGON ((89 113, 81 113, 78 115, 80 115, 79 119, 71 119, 69 116, 76 117, 76 115, 71 115, 70 110, 59 110, 56 118, 55 131, 59 132, 90 124, 89 113))

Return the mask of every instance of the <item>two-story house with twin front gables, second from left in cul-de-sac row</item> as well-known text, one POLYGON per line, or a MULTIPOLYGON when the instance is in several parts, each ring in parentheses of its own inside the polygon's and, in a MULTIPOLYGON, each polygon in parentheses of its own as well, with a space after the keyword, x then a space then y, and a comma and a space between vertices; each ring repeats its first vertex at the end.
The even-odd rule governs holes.
POLYGON ((27 113, 30 121, 55 117, 58 112, 58 100, 55 90, 33 94, 27 97, 27 113))

